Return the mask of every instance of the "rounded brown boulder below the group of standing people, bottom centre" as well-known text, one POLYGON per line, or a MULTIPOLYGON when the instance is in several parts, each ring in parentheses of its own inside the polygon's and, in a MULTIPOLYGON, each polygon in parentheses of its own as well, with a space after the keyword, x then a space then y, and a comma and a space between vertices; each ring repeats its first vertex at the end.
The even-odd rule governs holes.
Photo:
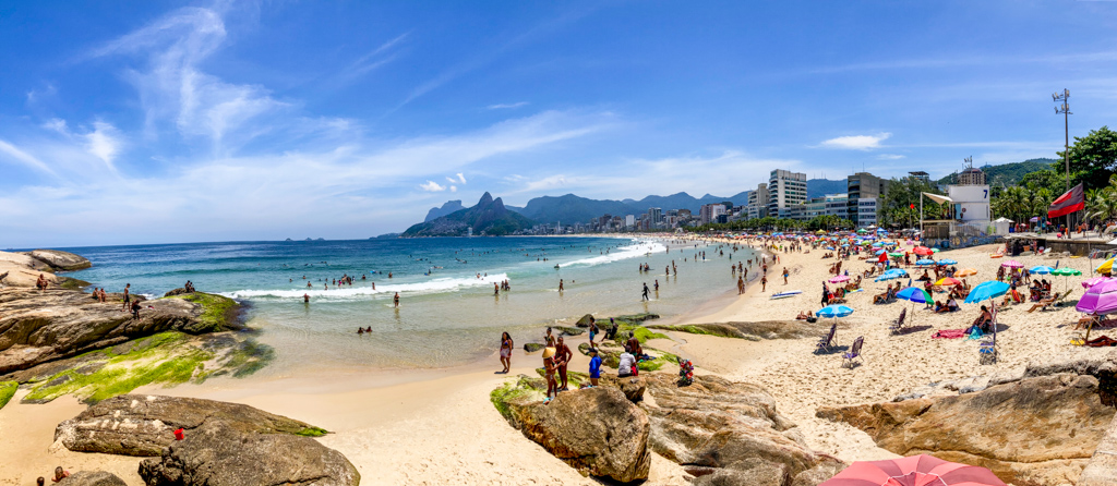
POLYGON ((648 416, 619 389, 564 391, 550 404, 533 398, 509 395, 497 408, 527 438, 583 474, 621 483, 648 477, 648 416))

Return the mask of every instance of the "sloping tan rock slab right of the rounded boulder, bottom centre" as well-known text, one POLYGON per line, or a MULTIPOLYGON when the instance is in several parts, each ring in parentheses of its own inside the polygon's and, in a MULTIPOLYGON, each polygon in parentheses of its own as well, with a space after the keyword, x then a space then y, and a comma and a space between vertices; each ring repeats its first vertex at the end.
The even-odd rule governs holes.
POLYGON ((652 450, 699 476, 703 485, 815 485, 844 468, 811 450, 795 425, 775 409, 764 388, 697 376, 679 387, 669 375, 650 373, 652 450))

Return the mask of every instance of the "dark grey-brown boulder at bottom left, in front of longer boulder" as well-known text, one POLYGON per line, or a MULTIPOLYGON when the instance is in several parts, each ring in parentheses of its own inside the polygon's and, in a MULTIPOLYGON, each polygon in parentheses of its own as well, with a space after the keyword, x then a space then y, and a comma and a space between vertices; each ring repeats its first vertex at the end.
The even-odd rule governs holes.
POLYGON ((356 486, 361 475, 341 453, 286 434, 245 431, 208 420, 140 463, 147 486, 356 486))

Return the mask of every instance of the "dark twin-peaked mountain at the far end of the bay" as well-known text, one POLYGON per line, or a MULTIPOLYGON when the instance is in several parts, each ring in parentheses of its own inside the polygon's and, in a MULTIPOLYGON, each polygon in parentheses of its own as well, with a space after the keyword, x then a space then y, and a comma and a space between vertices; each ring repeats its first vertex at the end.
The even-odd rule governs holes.
MULTIPOLYGON (((450 203, 455 203, 451 201, 450 203)), ((447 203, 447 204, 450 204, 447 203)), ((457 201, 461 205, 460 201, 457 201)), ((450 207, 454 205, 450 204, 450 207)), ((442 207, 446 207, 443 205, 442 207)), ((504 236, 534 225, 532 220, 504 207, 504 201, 485 193, 476 206, 455 211, 445 216, 412 225, 401 236, 465 236, 472 227, 475 235, 504 236)))

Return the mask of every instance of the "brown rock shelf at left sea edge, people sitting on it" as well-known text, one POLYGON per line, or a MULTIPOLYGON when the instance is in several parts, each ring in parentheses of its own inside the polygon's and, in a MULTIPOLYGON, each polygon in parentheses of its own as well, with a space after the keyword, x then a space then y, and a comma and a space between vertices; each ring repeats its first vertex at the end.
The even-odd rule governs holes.
POLYGON ((228 310, 236 302, 203 295, 201 302, 145 301, 140 319, 133 319, 117 294, 101 303, 78 291, 0 289, 0 375, 163 331, 198 334, 235 324, 228 310))

